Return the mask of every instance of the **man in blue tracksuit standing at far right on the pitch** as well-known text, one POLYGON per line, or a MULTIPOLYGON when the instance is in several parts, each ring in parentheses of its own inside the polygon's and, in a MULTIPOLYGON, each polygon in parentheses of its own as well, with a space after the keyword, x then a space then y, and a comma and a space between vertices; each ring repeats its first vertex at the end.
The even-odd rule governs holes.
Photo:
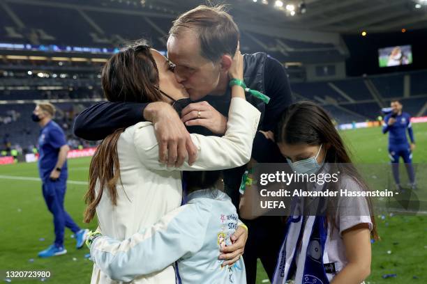
POLYGON ((412 166, 412 151, 415 149, 414 132, 412 130, 411 117, 409 113, 402 111, 403 105, 398 100, 391 101, 391 113, 384 118, 382 133, 389 132, 389 157, 393 170, 396 189, 401 190, 399 177, 399 158, 405 162, 410 186, 415 189, 415 174, 412 166), (408 143, 406 131, 410 136, 411 143, 408 143))

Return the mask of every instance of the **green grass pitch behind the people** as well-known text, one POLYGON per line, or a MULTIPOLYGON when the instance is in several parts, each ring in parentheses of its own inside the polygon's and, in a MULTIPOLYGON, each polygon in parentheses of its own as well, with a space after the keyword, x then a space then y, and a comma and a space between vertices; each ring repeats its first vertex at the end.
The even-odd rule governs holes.
MULTIPOLYGON (((427 162, 427 123, 414 124, 417 149, 414 162, 427 162)), ((387 136, 380 127, 354 129, 341 132, 355 161, 364 163, 387 163, 387 136)), ((89 158, 68 161, 68 180, 87 181, 89 158)), ((385 165, 385 164, 384 164, 385 165)), ((425 174, 425 173, 424 173, 425 174)), ((406 173, 401 173, 405 176, 406 173)), ((418 173, 421 182, 422 173, 418 173)), ((40 259, 38 251, 52 244, 54 239, 52 216, 47 211, 41 194, 36 164, 0 166, 0 273, 5 270, 50 271, 47 283, 89 283, 92 262, 84 258, 87 248, 75 249, 75 239, 66 230, 66 255, 40 259), (11 179, 26 177, 29 180, 11 179)), ((82 223, 83 195, 87 186, 68 184, 66 210, 80 226, 96 228, 82 223)), ((382 240, 373 244, 373 263, 367 283, 427 283, 427 218, 426 216, 386 216, 377 219, 382 240), (391 253, 388 253, 390 251, 391 253), (397 274, 396 278, 383 279, 384 274, 397 274)), ((159 255, 159 257, 161 257, 159 255)), ((0 281, 3 281, 3 278, 0 281)), ((257 283, 266 283, 267 275, 259 264, 257 283)), ((13 280, 12 283, 36 283, 13 280)))

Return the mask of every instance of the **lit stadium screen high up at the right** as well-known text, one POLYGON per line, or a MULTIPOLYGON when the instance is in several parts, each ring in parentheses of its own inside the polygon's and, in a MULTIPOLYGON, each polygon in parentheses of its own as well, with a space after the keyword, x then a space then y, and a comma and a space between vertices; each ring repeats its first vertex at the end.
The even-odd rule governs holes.
POLYGON ((378 49, 380 67, 391 67, 412 64, 412 47, 400 45, 378 49))

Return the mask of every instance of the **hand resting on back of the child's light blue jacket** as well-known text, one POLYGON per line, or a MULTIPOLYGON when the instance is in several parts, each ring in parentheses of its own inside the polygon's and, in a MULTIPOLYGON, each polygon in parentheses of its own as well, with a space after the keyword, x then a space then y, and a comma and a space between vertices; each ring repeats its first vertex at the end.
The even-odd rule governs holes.
POLYGON ((219 260, 226 260, 222 264, 223 267, 225 267, 225 265, 234 265, 234 263, 239 260, 245 251, 247 239, 248 230, 242 226, 237 227, 236 232, 231 236, 233 244, 231 246, 225 246, 218 257, 219 260))

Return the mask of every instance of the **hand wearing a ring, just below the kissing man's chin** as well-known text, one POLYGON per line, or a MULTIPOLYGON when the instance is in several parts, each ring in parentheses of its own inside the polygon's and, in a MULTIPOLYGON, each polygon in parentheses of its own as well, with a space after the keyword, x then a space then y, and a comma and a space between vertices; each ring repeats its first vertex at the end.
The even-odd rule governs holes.
POLYGON ((187 126, 200 125, 215 134, 227 131, 227 118, 214 109, 209 102, 188 104, 181 112, 181 120, 187 126))

